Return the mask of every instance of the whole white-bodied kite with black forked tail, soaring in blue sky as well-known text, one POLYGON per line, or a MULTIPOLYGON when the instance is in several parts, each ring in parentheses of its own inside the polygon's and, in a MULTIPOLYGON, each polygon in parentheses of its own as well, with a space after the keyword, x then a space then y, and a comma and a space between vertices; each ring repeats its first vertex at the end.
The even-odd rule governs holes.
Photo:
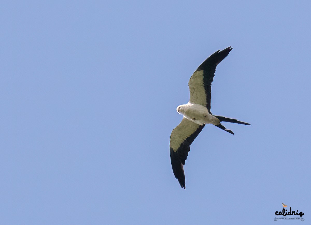
POLYGON ((178 179, 180 186, 184 189, 186 186, 183 165, 185 165, 191 143, 202 131, 205 124, 211 123, 230 134, 234 133, 220 122, 250 125, 246 122, 215 116, 211 113, 211 84, 216 66, 225 59, 231 50, 232 48, 228 47, 222 51, 216 51, 197 68, 188 83, 190 89, 189 102, 178 106, 176 109, 179 114, 183 115, 183 120, 171 133, 169 149, 175 178, 178 179))

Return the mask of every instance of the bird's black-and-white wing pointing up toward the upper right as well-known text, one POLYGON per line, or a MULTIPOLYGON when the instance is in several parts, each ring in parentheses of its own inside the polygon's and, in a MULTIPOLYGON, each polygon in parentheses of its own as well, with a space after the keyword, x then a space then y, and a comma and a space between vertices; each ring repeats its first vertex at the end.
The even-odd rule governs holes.
POLYGON ((190 103, 200 104, 211 110, 211 84, 216 71, 216 66, 232 50, 228 47, 222 51, 218 50, 207 58, 192 74, 189 80, 190 103))

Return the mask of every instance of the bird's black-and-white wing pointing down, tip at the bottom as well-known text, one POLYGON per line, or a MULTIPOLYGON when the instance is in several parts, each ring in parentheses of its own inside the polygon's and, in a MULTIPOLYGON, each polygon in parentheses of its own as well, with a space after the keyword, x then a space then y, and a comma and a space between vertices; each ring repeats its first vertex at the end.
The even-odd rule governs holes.
POLYGON ((171 163, 175 178, 178 179, 182 188, 185 186, 185 174, 183 165, 187 159, 190 145, 198 134, 202 131, 204 124, 198 125, 190 120, 183 118, 177 127, 171 133, 169 140, 169 150, 171 155, 171 163))

